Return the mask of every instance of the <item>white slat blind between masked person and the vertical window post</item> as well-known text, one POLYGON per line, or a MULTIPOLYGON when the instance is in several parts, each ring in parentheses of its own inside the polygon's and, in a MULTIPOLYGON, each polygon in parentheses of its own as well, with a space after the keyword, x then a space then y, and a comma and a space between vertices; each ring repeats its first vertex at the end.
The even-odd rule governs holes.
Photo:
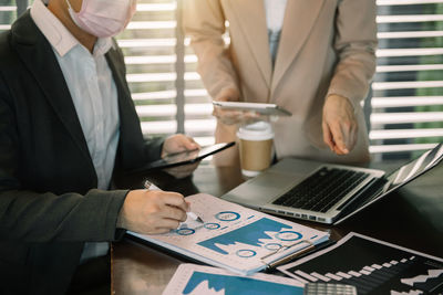
POLYGON ((150 136, 177 130, 176 103, 176 3, 137 2, 137 12, 117 36, 125 54, 127 82, 142 129, 150 136))

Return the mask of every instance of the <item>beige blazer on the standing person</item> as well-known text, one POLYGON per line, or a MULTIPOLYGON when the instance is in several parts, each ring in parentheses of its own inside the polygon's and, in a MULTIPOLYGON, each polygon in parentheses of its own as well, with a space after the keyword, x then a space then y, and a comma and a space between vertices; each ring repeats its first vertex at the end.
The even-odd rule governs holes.
MULTIPOLYGON (((214 99, 231 92, 240 101, 289 109, 292 117, 274 123, 278 158, 369 160, 360 103, 375 70, 375 0, 288 0, 285 13, 272 70, 264 0, 185 0, 184 28, 205 87, 214 99), (358 143, 347 156, 332 154, 322 139, 329 94, 348 97, 356 109, 358 143)), ((216 140, 235 139, 235 130, 217 123, 216 140)))

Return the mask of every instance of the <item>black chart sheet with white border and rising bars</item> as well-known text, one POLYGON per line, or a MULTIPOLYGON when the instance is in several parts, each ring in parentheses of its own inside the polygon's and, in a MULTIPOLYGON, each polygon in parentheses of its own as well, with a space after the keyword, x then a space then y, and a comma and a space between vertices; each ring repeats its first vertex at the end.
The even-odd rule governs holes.
POLYGON ((354 232, 278 270, 301 283, 353 285, 358 294, 443 294, 443 259, 354 232))

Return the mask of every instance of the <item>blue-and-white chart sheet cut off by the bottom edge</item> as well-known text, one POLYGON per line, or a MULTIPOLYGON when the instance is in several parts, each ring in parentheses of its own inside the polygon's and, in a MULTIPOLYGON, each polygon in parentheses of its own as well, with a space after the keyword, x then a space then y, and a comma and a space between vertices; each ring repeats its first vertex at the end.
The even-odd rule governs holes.
POLYGON ((181 264, 163 295, 302 295, 303 284, 289 277, 269 274, 240 276, 225 270, 196 264, 181 264))

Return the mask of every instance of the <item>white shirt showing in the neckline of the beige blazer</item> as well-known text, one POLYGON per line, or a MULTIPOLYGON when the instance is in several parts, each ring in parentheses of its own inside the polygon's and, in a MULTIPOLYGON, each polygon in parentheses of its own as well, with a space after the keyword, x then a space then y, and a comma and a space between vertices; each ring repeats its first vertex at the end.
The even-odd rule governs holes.
POLYGON ((269 50, 272 64, 277 56, 280 42, 281 27, 284 24, 287 0, 264 0, 266 11, 266 25, 268 27, 269 50))

